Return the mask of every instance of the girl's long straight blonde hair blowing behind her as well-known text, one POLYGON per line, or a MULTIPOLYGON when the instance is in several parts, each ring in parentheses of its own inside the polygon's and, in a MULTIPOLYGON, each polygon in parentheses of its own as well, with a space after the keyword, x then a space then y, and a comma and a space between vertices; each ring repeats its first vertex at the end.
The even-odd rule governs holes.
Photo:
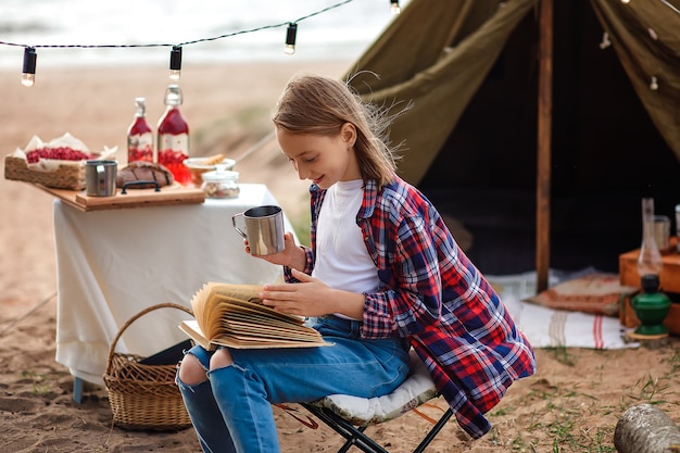
POLYGON ((386 109, 362 102, 349 85, 304 74, 289 80, 272 113, 274 125, 291 134, 335 137, 343 124, 353 124, 362 178, 364 183, 375 180, 378 187, 392 181, 396 171, 394 150, 387 138, 392 119, 386 109))

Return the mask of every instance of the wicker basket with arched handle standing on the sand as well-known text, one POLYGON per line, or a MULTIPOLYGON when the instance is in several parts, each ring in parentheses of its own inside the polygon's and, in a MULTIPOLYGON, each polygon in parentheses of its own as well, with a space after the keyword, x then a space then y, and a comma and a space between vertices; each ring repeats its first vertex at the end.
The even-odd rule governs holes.
POLYGON ((189 309, 173 303, 150 306, 133 316, 121 328, 109 350, 109 363, 103 376, 109 403, 116 426, 131 430, 178 430, 191 426, 179 389, 175 383, 176 365, 147 365, 143 357, 114 352, 123 332, 147 313, 172 307, 192 314, 189 309))

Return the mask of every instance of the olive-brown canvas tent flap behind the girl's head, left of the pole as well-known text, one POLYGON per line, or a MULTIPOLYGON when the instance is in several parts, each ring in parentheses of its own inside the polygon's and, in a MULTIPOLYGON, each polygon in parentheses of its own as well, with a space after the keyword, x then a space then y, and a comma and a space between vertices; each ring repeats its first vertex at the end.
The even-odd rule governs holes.
POLYGON ((533 0, 412 0, 344 76, 365 100, 396 109, 413 104, 390 133, 392 143, 404 143, 404 179, 423 179, 532 5, 533 0))

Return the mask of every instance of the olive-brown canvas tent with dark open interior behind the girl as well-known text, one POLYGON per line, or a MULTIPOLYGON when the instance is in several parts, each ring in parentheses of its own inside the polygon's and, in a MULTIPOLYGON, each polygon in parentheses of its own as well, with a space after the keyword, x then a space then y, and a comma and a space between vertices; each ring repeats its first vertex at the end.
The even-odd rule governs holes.
MULTIPOLYGON (((640 243, 640 199, 669 216, 680 203, 680 2, 543 1, 551 267, 616 270, 640 243)), ((413 102, 390 135, 400 173, 473 234, 486 273, 536 266, 540 5, 411 0, 344 76, 366 100, 413 102)))

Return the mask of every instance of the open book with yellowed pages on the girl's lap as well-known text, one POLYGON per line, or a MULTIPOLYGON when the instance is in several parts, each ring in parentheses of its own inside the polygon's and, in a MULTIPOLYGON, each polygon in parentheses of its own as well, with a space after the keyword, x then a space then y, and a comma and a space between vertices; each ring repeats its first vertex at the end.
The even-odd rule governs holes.
POLYGON ((300 316, 279 313, 260 300, 261 286, 209 282, 191 299, 196 320, 179 328, 206 350, 331 345, 300 316))

